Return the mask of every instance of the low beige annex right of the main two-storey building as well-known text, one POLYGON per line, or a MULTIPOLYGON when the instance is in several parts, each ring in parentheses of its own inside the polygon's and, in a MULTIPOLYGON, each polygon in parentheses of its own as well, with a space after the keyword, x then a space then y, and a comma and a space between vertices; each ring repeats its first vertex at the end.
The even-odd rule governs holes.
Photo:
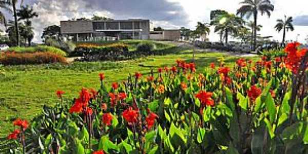
POLYGON ((150 40, 157 41, 178 41, 181 39, 179 29, 164 29, 163 31, 151 31, 150 40))

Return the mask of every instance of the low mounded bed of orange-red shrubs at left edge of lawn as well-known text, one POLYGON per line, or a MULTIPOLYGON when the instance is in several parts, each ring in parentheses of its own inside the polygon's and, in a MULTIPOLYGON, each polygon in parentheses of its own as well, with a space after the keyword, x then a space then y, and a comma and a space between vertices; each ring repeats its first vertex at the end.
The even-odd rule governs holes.
POLYGON ((64 56, 52 52, 5 52, 0 56, 0 63, 3 65, 66 63, 66 59, 64 56))

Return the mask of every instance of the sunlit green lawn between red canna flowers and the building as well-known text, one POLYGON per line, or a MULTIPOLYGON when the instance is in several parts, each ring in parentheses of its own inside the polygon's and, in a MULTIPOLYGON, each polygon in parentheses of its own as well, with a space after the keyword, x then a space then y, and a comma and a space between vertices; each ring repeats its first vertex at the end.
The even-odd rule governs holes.
MULTIPOLYGON (((112 82, 125 80, 129 73, 140 71, 147 74, 150 69, 174 65, 177 59, 192 60, 191 50, 180 47, 172 47, 172 50, 174 52, 167 55, 125 62, 0 67, 5 73, 2 77, 0 74, 0 137, 6 136, 12 129, 12 119, 21 117, 30 120, 40 114, 43 105, 54 105, 58 101, 56 90, 64 90, 66 98, 73 98, 82 87, 98 88, 100 72, 105 73, 105 83, 109 86, 112 82)), ((225 53, 196 53, 195 57, 198 72, 204 71, 209 63, 217 62, 220 57, 224 57, 228 64, 234 64, 238 59, 225 53)))

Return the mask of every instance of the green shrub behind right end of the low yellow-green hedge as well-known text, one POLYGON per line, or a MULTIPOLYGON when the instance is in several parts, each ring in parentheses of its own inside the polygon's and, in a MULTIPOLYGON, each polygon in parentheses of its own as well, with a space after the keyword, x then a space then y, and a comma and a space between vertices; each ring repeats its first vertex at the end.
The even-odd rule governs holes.
POLYGON ((45 41, 45 44, 48 45, 48 46, 59 48, 59 49, 65 51, 67 53, 73 52, 75 50, 75 48, 76 48, 75 44, 73 44, 70 41, 60 42, 60 41, 56 41, 56 40, 54 40, 52 38, 48 38, 45 41))

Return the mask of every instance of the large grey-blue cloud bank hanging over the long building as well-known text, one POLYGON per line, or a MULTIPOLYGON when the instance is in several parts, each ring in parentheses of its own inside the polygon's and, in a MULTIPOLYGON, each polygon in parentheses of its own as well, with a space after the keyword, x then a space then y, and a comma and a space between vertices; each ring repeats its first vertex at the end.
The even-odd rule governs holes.
POLYGON ((60 21, 71 18, 88 17, 93 14, 125 18, 148 18, 155 26, 176 28, 187 24, 188 15, 177 2, 165 0, 41 0, 33 3, 38 18, 33 19, 35 31, 34 42, 41 42, 41 34, 49 25, 60 25, 60 21))

